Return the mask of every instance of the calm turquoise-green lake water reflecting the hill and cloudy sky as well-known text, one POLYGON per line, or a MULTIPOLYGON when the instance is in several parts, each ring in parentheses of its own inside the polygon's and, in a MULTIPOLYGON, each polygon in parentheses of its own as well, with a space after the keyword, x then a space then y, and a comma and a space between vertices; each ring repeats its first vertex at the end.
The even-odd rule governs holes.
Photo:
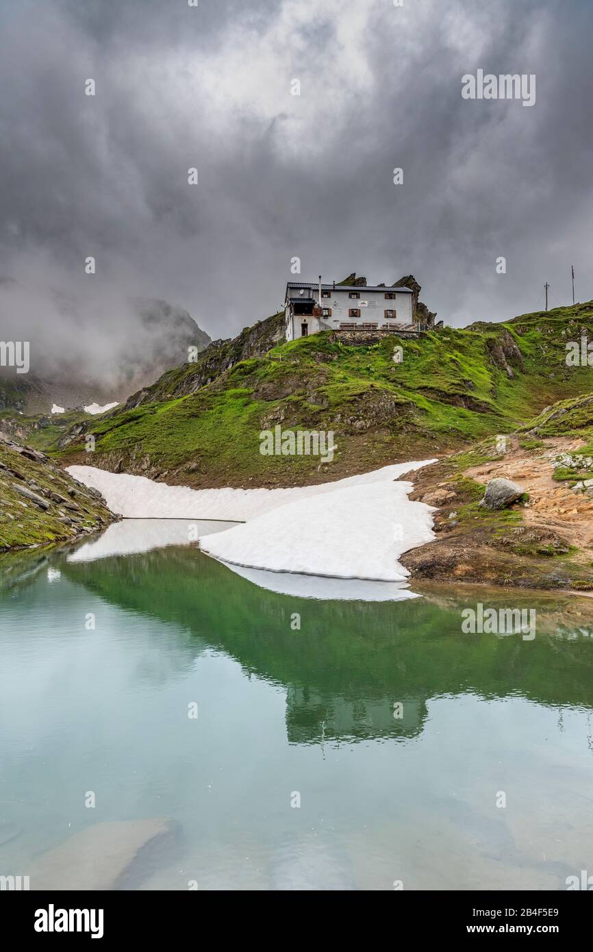
POLYGON ((145 530, 137 551, 0 563, 0 874, 149 818, 174 838, 134 888, 563 889, 592 869, 593 628, 568 602, 513 593, 533 641, 465 635, 452 589, 287 595, 145 530))

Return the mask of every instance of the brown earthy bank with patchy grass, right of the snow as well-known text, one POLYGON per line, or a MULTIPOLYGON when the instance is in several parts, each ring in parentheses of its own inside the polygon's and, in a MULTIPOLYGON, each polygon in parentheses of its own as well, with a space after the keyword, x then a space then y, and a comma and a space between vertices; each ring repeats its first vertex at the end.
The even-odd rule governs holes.
POLYGON ((509 438, 500 456, 464 466, 463 454, 406 474, 410 499, 436 506, 434 542, 400 559, 412 579, 437 583, 504 585, 593 591, 593 498, 553 479, 555 457, 583 441, 558 437, 524 449, 509 438), (516 482, 526 503, 492 512, 479 506, 481 486, 492 479, 516 482))

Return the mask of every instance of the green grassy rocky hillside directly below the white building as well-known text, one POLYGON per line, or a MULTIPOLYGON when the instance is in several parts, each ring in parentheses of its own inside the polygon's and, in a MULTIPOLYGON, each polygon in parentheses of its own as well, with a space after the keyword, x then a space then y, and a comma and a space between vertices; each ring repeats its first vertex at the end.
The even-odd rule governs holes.
MULTIPOLYGON (((370 347, 317 334, 240 360, 188 395, 175 394, 197 386, 195 368, 170 371, 141 406, 89 422, 94 454, 79 439, 60 455, 193 486, 339 478, 509 432, 546 405, 593 391, 593 368, 564 363, 565 343, 582 332, 593 338, 593 302, 506 324, 447 327, 421 340, 389 336, 370 347), (404 347, 399 366, 397 344, 404 347), (334 462, 262 456, 259 432, 275 424, 333 430, 334 462)), ((51 449, 59 453, 55 443, 51 449)))

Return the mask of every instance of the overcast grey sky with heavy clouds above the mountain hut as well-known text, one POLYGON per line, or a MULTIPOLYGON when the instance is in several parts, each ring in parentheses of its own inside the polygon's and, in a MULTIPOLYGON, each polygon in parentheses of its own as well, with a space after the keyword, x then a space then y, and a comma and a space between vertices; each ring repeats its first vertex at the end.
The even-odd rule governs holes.
POLYGON ((56 332, 43 288, 95 326, 155 296, 227 337, 294 256, 412 272, 454 325, 543 307, 545 280, 568 303, 571 265, 593 298, 592 37, 591 0, 2 0, 0 275, 56 332), (477 69, 534 73, 535 105, 464 100, 477 69))

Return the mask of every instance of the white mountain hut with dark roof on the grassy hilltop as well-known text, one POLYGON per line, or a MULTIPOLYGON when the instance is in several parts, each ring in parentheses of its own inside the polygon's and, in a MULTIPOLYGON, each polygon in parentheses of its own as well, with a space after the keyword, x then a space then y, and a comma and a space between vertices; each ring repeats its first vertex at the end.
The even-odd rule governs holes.
POLYGON ((414 323, 414 293, 385 285, 325 285, 289 281, 285 301, 287 341, 320 330, 421 329, 414 323))

